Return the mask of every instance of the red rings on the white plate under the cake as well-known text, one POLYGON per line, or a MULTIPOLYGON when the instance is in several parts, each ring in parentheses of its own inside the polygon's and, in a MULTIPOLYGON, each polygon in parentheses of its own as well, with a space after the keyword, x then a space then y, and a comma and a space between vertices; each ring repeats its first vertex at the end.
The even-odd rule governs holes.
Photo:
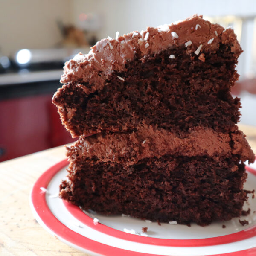
MULTIPOLYGON (((50 211, 50 209, 47 205, 45 193, 42 193, 42 191, 41 191, 41 187, 46 188, 48 186, 49 182, 52 180, 52 177, 54 177, 65 166, 67 166, 67 164, 68 164, 68 161, 67 161, 67 159, 65 159, 65 160, 62 160, 61 162, 55 164, 54 166, 50 167, 46 172, 44 172, 38 178, 38 180, 36 181, 35 185, 32 188, 32 192, 31 192, 32 207, 34 208, 36 214, 38 215, 38 218, 41 219, 41 221, 45 224, 45 226, 49 230, 51 230, 53 233, 55 233, 55 235, 61 237, 62 239, 66 240, 76 246, 79 246, 83 249, 94 252, 94 253, 99 253, 102 255, 109 255, 109 256, 119 256, 119 255, 121 255, 121 253, 123 256, 153 255, 153 254, 148 254, 148 253, 139 253, 139 252, 124 250, 121 248, 112 247, 112 246, 91 240, 87 237, 80 235, 79 233, 74 232, 73 230, 70 230, 68 227, 66 227, 63 223, 61 223, 61 221, 59 221, 52 214, 52 212, 50 211)), ((247 168, 248 172, 251 172, 253 175, 256 175, 256 170, 254 170, 250 167, 246 167, 246 168, 247 168)), ((79 207, 73 207, 73 209, 77 210, 76 208, 79 209, 79 207)), ((87 226, 93 227, 95 230, 98 230, 102 233, 106 233, 104 231, 107 231, 106 234, 108 234, 110 236, 118 237, 120 239, 124 239, 124 240, 128 240, 128 241, 136 241, 138 243, 143 243, 143 244, 180 246, 180 247, 187 247, 187 246, 198 247, 198 246, 217 245, 217 244, 224 244, 227 242, 240 241, 240 240, 248 239, 248 238, 256 235, 256 226, 253 226, 248 229, 245 229, 245 230, 242 230, 240 232, 233 233, 230 235, 218 236, 218 237, 207 238, 207 239, 184 239, 184 240, 182 240, 182 239, 148 238, 148 237, 133 235, 133 234, 119 231, 119 230, 115 230, 111 227, 107 227, 100 223, 98 225, 94 225, 93 220, 90 217, 88 217, 84 212, 82 212, 81 209, 79 209, 79 212, 81 212, 82 215, 86 217, 86 219, 87 218, 90 219, 90 221, 88 221, 89 223, 82 221, 87 226), (111 231, 111 233, 109 233, 109 231, 111 231), (116 236, 116 234, 118 236, 116 236), (239 235, 239 237, 237 237, 237 235, 239 235), (229 240, 227 240, 226 237, 228 237, 229 240), (217 239, 216 242, 214 241, 215 239, 217 239), (223 239, 226 242, 223 243, 223 239), (157 243, 155 243, 155 241, 157 243), (177 243, 179 243, 179 244, 177 245, 177 243)), ((74 217, 76 217, 76 216, 74 215, 74 217)), ((220 255, 220 256, 241 256, 241 255, 252 256, 254 254, 256 254, 256 247, 242 250, 242 251, 224 253, 224 254, 218 254, 218 255, 220 255)), ((215 254, 215 255, 208 255, 208 256, 218 256, 218 255, 215 254)), ((157 256, 160 256, 160 255, 157 255, 157 256)))

